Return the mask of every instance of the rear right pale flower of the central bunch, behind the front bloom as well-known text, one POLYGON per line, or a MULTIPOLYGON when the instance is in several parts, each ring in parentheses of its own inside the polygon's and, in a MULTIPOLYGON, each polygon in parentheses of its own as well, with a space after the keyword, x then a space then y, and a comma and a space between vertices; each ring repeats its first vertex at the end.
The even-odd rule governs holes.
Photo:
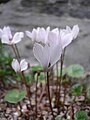
POLYGON ((67 47, 73 39, 77 37, 79 33, 79 27, 78 25, 74 25, 71 29, 69 26, 66 27, 66 29, 53 29, 52 31, 49 31, 48 33, 48 43, 50 44, 61 44, 62 49, 67 47))

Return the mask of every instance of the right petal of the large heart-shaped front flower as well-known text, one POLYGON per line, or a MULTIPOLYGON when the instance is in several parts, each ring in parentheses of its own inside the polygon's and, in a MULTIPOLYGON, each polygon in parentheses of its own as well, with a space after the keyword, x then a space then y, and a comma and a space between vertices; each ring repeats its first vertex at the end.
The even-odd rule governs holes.
POLYGON ((60 59, 61 53, 62 53, 62 49, 59 44, 51 48, 51 55, 50 55, 51 67, 60 59))

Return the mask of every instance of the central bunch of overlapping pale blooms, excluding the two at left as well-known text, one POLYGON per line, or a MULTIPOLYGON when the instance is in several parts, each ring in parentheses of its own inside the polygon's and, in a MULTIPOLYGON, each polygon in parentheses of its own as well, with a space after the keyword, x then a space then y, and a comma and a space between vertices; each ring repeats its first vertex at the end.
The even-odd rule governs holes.
POLYGON ((59 30, 50 27, 33 29, 32 32, 26 31, 28 37, 35 42, 33 54, 44 67, 44 70, 52 67, 61 57, 62 50, 77 37, 77 27, 73 30, 59 30), (74 34, 74 31, 76 32, 74 34))

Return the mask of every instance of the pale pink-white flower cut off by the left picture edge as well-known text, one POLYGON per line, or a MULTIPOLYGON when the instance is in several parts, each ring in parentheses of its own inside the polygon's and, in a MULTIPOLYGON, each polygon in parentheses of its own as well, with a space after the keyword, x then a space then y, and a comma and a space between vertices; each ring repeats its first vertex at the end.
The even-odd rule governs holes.
POLYGON ((14 36, 12 36, 10 27, 4 27, 3 29, 0 29, 0 38, 2 43, 9 45, 16 44, 20 42, 23 37, 23 32, 16 32, 14 36))

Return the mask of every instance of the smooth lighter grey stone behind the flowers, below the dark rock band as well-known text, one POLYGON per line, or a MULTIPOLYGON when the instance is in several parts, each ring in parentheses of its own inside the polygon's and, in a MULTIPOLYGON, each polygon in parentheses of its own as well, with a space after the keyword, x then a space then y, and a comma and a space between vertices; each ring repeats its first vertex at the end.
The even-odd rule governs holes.
MULTIPOLYGON (((0 5, 0 27, 9 25, 13 31, 32 30, 33 27, 60 27, 65 28, 66 25, 73 26, 78 24, 80 34, 74 40, 66 51, 65 64, 80 63, 86 70, 90 70, 90 19, 70 17, 68 14, 55 16, 54 14, 40 13, 39 11, 27 10, 21 4, 21 0, 11 0, 6 4, 0 5)), ((32 53, 32 42, 26 35, 25 39, 18 44, 19 51, 23 58, 29 58, 32 64, 37 64, 32 53)))

